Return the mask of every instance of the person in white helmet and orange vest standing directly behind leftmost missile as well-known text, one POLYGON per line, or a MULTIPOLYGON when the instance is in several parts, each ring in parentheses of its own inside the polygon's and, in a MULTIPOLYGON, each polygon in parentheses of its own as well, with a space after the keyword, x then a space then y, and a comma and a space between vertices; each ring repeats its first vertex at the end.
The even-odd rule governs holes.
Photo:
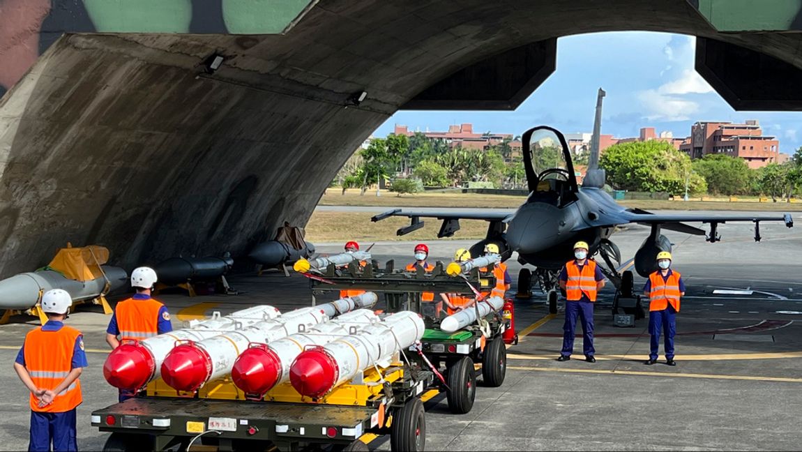
MULTIPOLYGON (((117 303, 106 329, 106 342, 112 349, 119 347, 120 340, 143 340, 172 331, 167 307, 151 297, 156 281, 156 271, 150 267, 139 267, 131 272, 131 287, 136 289, 136 294, 117 303)), ((120 389, 119 401, 135 395, 120 389)))

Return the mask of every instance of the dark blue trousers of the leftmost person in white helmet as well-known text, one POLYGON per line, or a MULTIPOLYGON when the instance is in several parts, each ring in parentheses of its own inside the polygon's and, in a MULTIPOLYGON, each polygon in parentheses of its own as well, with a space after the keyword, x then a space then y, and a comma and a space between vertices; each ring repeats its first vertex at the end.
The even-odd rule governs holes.
POLYGON ((78 450, 75 434, 75 408, 63 413, 30 412, 29 452, 50 452, 53 450, 78 450))

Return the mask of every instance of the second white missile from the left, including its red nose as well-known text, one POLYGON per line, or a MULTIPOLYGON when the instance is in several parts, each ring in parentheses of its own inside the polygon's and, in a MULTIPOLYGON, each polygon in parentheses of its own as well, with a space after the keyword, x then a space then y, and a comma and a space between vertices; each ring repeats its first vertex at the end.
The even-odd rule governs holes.
MULTIPOLYGON (((367 301, 371 297, 367 297, 367 301)), ((375 295, 373 297, 375 299, 375 295)), ((332 303, 338 303, 337 300, 332 303)), ((302 307, 273 320, 265 320, 225 332, 198 342, 188 342, 173 348, 161 364, 161 377, 173 389, 195 391, 207 381, 217 380, 231 373, 234 360, 251 342, 269 344, 273 340, 290 336, 298 331, 329 320, 326 312, 335 308, 324 303, 315 307, 302 307)), ((347 303, 338 303, 347 306, 347 303)), ((342 312, 342 311, 340 311, 342 312)))

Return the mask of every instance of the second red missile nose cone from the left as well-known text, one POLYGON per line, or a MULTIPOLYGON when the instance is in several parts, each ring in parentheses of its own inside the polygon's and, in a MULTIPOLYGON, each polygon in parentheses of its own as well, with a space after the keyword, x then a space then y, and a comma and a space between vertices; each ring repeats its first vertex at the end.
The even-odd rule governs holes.
POLYGON ((171 388, 194 391, 203 385, 212 371, 212 360, 194 344, 179 345, 161 364, 161 378, 171 388))

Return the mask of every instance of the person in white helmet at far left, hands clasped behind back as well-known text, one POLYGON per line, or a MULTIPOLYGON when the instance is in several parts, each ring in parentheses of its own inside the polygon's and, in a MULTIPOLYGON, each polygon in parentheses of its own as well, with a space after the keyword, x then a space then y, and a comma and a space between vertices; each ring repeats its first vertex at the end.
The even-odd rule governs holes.
POLYGON ((25 336, 14 370, 30 391, 28 450, 78 450, 75 407, 81 404, 83 368, 87 356, 83 335, 64 325, 72 298, 53 289, 42 295, 47 323, 25 336))

